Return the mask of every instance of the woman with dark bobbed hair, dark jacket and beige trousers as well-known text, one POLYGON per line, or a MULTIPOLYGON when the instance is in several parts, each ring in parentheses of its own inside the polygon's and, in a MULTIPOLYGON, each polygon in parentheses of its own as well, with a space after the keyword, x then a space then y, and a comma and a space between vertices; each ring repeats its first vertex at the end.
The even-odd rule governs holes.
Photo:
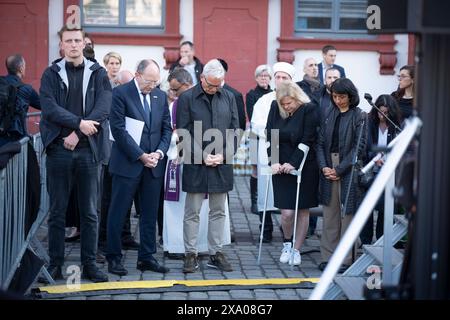
MULTIPOLYGON (((363 190, 357 184, 357 174, 350 181, 352 160, 365 156, 367 114, 358 108, 358 90, 348 78, 337 79, 331 86, 333 107, 321 123, 317 143, 317 161, 320 169, 320 203, 323 205, 323 231, 320 251, 323 270, 336 249, 358 209, 363 190), (359 149, 358 137, 361 133, 359 149), (345 212, 345 198, 349 192, 345 212)), ((351 253, 344 260, 343 271, 351 264, 351 253)))

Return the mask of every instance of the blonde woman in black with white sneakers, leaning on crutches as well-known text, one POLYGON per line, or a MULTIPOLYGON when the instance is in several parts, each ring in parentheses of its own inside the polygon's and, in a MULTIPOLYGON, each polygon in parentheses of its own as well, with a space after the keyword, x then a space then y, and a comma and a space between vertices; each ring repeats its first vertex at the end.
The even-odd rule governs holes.
POLYGON ((318 204, 318 167, 314 153, 314 144, 317 138, 318 126, 317 105, 311 103, 308 96, 293 81, 283 82, 277 87, 276 101, 272 103, 269 117, 267 118, 267 141, 272 141, 274 129, 279 130, 278 143, 273 143, 273 148, 278 149, 276 154, 269 147, 269 155, 272 166, 272 184, 274 205, 280 208, 281 225, 285 239, 280 256, 280 262, 292 264, 301 263, 300 248, 305 240, 309 226, 309 208, 318 204), (298 149, 300 143, 310 147, 300 184, 298 213, 295 214, 295 201, 297 192, 297 177, 289 174, 297 170, 303 160, 304 153, 298 149), (277 161, 278 160, 278 161, 277 161), (294 248, 290 238, 294 229, 294 217, 297 216, 297 230, 294 248))

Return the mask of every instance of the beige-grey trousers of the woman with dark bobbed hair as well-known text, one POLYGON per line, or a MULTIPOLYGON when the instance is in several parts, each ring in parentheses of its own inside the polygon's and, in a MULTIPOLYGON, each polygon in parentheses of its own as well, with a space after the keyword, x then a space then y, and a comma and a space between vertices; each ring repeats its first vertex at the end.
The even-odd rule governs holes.
MULTIPOLYGON (((332 153, 331 161, 333 168, 339 165, 339 154, 332 153)), ((353 215, 345 215, 341 217, 341 181, 333 181, 331 186, 331 200, 328 206, 323 206, 323 230, 320 238, 320 253, 322 260, 327 262, 333 255, 339 241, 342 239, 347 230, 353 215)), ((344 260, 345 265, 352 264, 351 251, 344 260)))

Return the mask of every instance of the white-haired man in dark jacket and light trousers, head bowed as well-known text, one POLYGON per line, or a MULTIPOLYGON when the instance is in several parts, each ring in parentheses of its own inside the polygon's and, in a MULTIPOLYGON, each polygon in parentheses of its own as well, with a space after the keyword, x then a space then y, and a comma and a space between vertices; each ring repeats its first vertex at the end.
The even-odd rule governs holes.
POLYGON ((187 193, 183 220, 185 273, 199 267, 197 236, 205 193, 210 208, 208 266, 232 271, 222 253, 222 238, 226 196, 233 189, 232 156, 239 138, 235 135, 239 120, 234 96, 222 90, 224 78, 225 70, 213 59, 205 65, 200 82, 178 98, 177 133, 182 137, 184 155, 182 189, 187 193))

